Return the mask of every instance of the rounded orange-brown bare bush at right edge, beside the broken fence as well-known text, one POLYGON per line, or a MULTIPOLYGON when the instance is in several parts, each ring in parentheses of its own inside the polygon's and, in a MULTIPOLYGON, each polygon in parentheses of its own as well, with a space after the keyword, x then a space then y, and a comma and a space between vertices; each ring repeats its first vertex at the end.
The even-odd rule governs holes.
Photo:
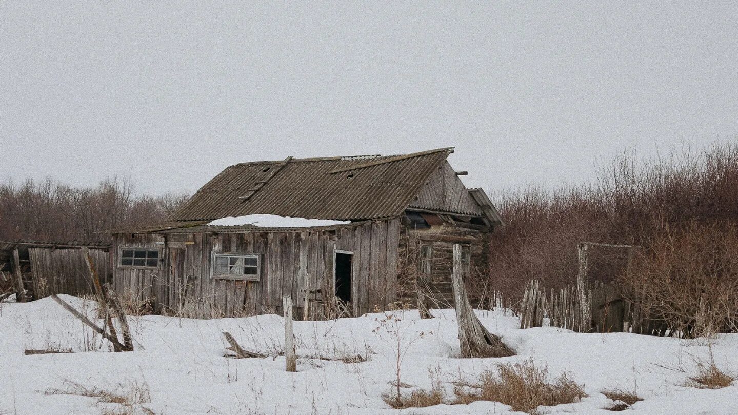
POLYGON ((648 247, 634 253, 621 277, 649 316, 673 335, 708 337, 736 330, 738 319, 738 224, 688 222, 664 225, 648 247))

